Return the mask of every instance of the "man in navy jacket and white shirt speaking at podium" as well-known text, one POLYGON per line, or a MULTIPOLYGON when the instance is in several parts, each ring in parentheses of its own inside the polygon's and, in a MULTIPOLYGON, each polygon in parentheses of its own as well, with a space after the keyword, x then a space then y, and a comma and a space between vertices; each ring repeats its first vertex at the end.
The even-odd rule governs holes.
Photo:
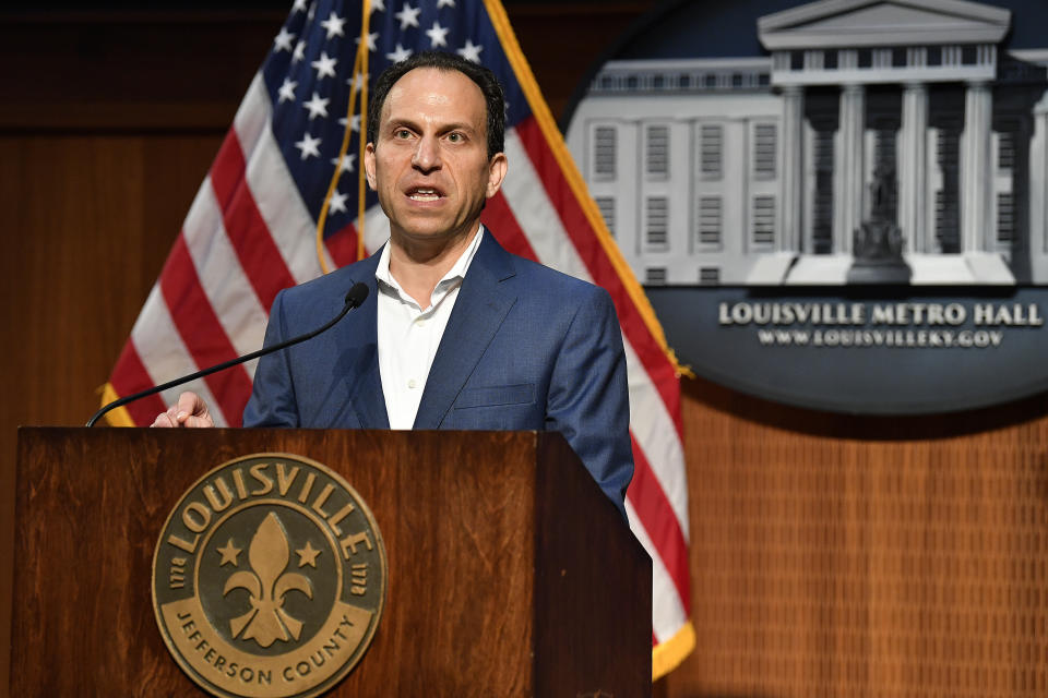
MULTIPOLYGON (((611 300, 508 253, 480 224, 507 173, 504 123, 495 75, 457 56, 417 53, 379 76, 365 171, 389 243, 281 291, 264 344, 323 324, 358 281, 374 300, 263 357, 243 424, 559 431, 624 516, 633 459, 611 300)), ((153 423, 213 424, 193 393, 153 423)))

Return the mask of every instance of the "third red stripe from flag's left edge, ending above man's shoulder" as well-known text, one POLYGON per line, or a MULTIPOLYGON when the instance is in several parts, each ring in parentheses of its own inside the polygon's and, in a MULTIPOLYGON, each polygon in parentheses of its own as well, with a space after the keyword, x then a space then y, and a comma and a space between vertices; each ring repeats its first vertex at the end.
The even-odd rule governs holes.
POLYGON ((245 174, 243 151, 236 129, 229 129, 211 166, 211 185, 222 209, 226 237, 237 251, 259 301, 269 312, 276 293, 295 286, 295 277, 270 236, 245 174))

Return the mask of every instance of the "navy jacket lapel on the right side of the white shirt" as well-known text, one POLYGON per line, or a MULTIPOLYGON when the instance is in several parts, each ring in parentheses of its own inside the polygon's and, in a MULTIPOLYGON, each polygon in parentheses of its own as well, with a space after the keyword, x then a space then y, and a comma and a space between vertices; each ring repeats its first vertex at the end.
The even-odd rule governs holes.
POLYGON ((499 288, 514 275, 509 253, 486 231, 458 289, 429 369, 414 429, 438 429, 516 297, 499 288))

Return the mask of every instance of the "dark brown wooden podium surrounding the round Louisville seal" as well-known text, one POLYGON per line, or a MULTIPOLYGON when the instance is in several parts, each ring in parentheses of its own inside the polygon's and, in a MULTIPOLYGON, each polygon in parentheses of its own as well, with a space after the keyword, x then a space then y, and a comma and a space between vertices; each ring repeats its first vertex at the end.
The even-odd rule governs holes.
POLYGON ((370 649, 329 695, 651 695, 651 559, 559 434, 22 429, 12 696, 205 695, 153 611, 165 520, 255 453, 326 465, 389 564, 370 649))

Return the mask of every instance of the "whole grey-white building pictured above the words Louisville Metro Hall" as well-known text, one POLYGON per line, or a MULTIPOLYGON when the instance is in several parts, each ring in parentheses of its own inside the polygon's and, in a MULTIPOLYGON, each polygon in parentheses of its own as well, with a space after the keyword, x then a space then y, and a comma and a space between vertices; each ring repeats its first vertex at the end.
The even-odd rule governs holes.
POLYGON ((767 57, 606 63, 568 145, 648 285, 1048 284, 1048 48, 1010 25, 802 4, 767 57))

